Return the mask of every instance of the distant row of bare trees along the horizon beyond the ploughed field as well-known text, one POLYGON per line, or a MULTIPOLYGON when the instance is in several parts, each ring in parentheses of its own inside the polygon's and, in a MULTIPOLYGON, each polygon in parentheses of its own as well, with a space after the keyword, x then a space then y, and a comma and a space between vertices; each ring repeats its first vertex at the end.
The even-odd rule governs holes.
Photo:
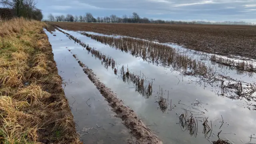
POLYGON ((122 17, 118 17, 114 14, 110 16, 104 16, 104 17, 96 17, 90 13, 87 12, 84 16, 73 16, 72 14, 67 14, 66 16, 60 15, 60 16, 54 16, 53 14, 48 15, 48 20, 50 21, 57 21, 57 22, 101 22, 101 23, 151 23, 151 24, 246 24, 246 25, 252 25, 252 23, 248 22, 205 22, 205 21, 192 21, 192 22, 186 22, 186 21, 174 21, 174 20, 153 20, 149 18, 141 18, 136 12, 132 13, 132 16, 127 16, 126 14, 122 17))

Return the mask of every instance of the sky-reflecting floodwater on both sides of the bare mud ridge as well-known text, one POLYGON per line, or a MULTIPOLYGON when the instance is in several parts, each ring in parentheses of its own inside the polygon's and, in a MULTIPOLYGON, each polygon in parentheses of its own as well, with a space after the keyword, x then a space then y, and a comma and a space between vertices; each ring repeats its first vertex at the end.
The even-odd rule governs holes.
MULTIPOLYGON (((68 49, 73 54, 76 54, 86 66, 92 69, 101 82, 116 92, 118 98, 124 101, 124 105, 132 108, 142 118, 143 122, 148 125, 148 128, 156 132, 156 135, 159 136, 164 144, 210 144, 210 141, 218 140, 217 135, 221 130, 219 137, 223 140, 230 140, 230 143, 245 144, 250 141, 251 135, 251 141, 256 142, 256 136, 254 135, 256 111, 249 110, 251 105, 248 105, 256 104, 255 102, 248 102, 244 99, 232 100, 227 97, 218 96, 217 92, 220 91, 220 88, 204 83, 198 84, 193 76, 182 76, 179 72, 171 71, 170 68, 145 62, 140 58, 135 58, 128 53, 115 50, 77 32, 63 31, 79 38, 82 42, 89 44, 90 47, 95 47, 104 54, 111 56, 118 63, 118 75, 115 75, 114 70, 104 68, 98 58, 92 57, 91 54, 88 54, 87 50, 75 44, 73 40, 69 40, 63 33, 56 31, 54 33, 56 37, 54 37, 47 32, 60 76, 65 79, 64 82, 68 83, 65 87, 65 94, 70 102, 70 106, 72 106, 78 130, 86 126, 87 128, 104 127, 104 130, 99 128, 99 132, 96 129, 90 130, 89 134, 82 137, 84 140, 92 140, 94 143, 96 141, 102 142, 101 140, 104 143, 111 144, 114 144, 116 141, 125 143, 126 138, 130 138, 130 134, 121 125, 121 120, 112 116, 114 113, 110 110, 107 102, 104 101, 103 96, 96 90, 86 74, 83 73, 82 68, 79 68, 79 64, 72 57, 72 54, 68 52, 68 49), (143 74, 149 82, 153 81, 152 96, 145 98, 135 91, 132 83, 127 84, 123 82, 120 76, 122 65, 128 65, 130 72, 143 74), (160 88, 163 88, 163 97, 168 99, 168 109, 164 113, 160 110, 158 103, 156 103, 160 88), (88 98, 90 100, 87 103, 91 104, 91 107, 88 107, 86 104, 88 98), (74 100, 76 101, 74 102, 74 100), (171 111, 170 104, 172 104, 171 111), (189 110, 189 116, 193 114, 194 119, 198 120, 198 135, 196 138, 195 136, 190 136, 187 130, 180 127, 179 115, 186 110, 189 110), (209 134, 205 138, 202 133, 202 120, 204 117, 208 117, 208 125, 210 127, 212 122, 210 138, 208 138, 209 134), (221 123, 222 117, 223 124, 221 123), (120 125, 111 126, 109 124, 111 122, 119 122, 118 124, 120 125), (126 132, 120 132, 122 130, 126 132)), ((220 72, 222 71, 221 68, 219 70, 220 72)), ((249 77, 246 74, 236 75, 235 71, 230 71, 228 74, 235 79, 246 82, 255 81, 254 76, 249 77)), ((86 144, 87 141, 85 141, 86 144)))

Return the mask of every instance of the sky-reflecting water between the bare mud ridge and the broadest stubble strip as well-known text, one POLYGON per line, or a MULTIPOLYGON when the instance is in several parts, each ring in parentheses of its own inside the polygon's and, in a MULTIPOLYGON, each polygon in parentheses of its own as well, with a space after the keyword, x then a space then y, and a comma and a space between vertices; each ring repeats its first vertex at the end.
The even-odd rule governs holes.
MULTIPOLYGON (((60 33, 58 35, 61 35, 60 33)), ((192 76, 181 76, 178 72, 170 72, 170 69, 164 67, 157 67, 142 59, 130 56, 127 53, 117 51, 104 44, 100 44, 90 38, 78 35, 76 32, 69 32, 80 38, 82 41, 88 43, 90 46, 101 50, 105 54, 115 58, 115 60, 123 65, 128 64, 129 70, 135 74, 143 72, 146 78, 155 78, 152 84, 152 97, 145 100, 140 94, 134 92, 131 86, 124 84, 122 79, 113 74, 112 70, 103 68, 98 60, 88 56, 87 52, 81 46, 74 45, 74 42, 69 41, 68 38, 63 38, 67 44, 63 46, 68 47, 78 58, 84 62, 94 73, 100 78, 100 81, 106 84, 117 93, 119 98, 124 100, 124 104, 131 107, 146 123, 150 125, 155 132, 159 132, 158 136, 164 143, 175 144, 198 144, 209 143, 205 139, 203 132, 203 122, 198 121, 198 135, 196 138, 182 132, 179 124, 179 115, 185 111, 193 111, 196 119, 202 120, 208 117, 208 121, 212 121, 212 135, 211 140, 218 140, 218 132, 222 130, 219 137, 222 139, 228 138, 234 143, 242 143, 250 141, 249 136, 254 134, 256 126, 255 111, 250 111, 247 106, 254 102, 247 100, 231 100, 226 97, 218 96, 216 93, 220 91, 218 87, 199 86, 196 83, 196 78, 192 76), (157 109, 158 104, 155 103, 158 99, 157 92, 159 86, 163 89, 163 98, 168 98, 167 104, 170 107, 172 100, 173 108, 162 113, 157 109), (169 94, 168 94, 169 91, 169 94), (196 100, 200 100, 202 104, 198 105, 198 110, 191 107, 196 100), (175 106, 174 106, 175 105, 175 106), (170 111, 171 110, 171 111, 170 111), (224 124, 221 123, 221 116, 223 116, 224 124), (220 126, 222 125, 221 129, 220 126)), ((59 41, 62 42, 62 41, 59 41)), ((232 75, 232 74, 231 74, 232 75)), ((252 81, 249 77, 238 77, 244 81, 252 81)), ((254 139, 252 139, 254 141, 254 139)))

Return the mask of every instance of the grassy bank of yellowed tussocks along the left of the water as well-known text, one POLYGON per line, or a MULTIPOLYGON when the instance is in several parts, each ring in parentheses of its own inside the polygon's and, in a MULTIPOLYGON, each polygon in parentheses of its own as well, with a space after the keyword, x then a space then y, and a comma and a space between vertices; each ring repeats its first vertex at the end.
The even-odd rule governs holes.
POLYGON ((78 144, 43 22, 0 23, 0 143, 78 144))

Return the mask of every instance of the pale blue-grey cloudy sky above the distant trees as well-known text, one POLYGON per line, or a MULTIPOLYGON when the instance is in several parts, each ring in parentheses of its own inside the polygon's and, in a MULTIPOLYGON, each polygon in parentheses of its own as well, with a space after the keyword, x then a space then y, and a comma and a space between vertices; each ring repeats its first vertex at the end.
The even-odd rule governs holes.
POLYGON ((116 14, 162 20, 256 22, 256 0, 38 0, 44 18, 56 15, 116 14))

